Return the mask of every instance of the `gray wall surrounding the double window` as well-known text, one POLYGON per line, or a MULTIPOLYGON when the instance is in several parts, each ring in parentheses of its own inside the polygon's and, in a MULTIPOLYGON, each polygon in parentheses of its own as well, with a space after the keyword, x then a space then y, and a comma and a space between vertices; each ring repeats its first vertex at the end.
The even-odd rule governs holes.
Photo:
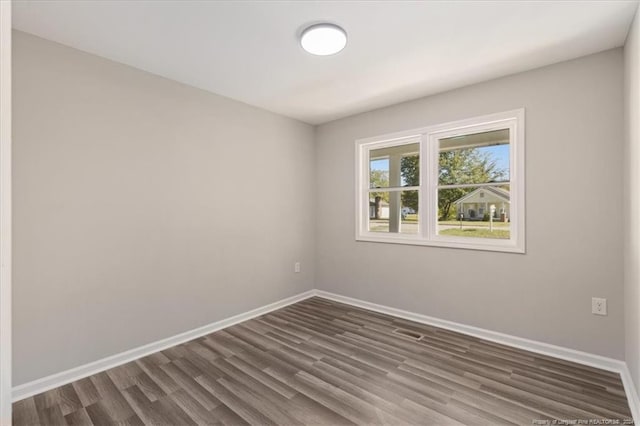
POLYGON ((622 359, 622 72, 615 49, 320 126, 316 286, 622 359), (525 255, 354 240, 355 139, 520 107, 525 255))

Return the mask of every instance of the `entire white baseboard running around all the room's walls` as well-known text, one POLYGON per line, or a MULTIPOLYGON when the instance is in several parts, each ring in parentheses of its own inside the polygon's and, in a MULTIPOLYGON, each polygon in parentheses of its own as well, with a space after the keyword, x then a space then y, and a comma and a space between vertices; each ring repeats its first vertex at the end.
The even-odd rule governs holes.
POLYGON ((336 302, 345 303, 347 305, 357 306, 360 308, 369 309, 371 311, 380 312, 399 318, 404 318, 418 323, 457 331, 462 334, 479 337, 481 339, 501 343, 503 345, 512 346, 515 348, 520 348, 531 352, 564 359, 567 361, 573 361, 578 364, 589 365, 591 367, 601 368, 603 370, 619 373, 620 377, 622 378, 625 392, 627 394, 627 399, 629 400, 629 408, 631 409, 631 413, 633 414, 633 419, 636 424, 640 425, 640 399, 638 398, 638 393, 636 392, 636 388, 633 385, 633 379, 631 377, 631 374, 629 373, 627 364, 624 361, 607 358, 600 355, 594 355, 587 352, 577 351, 574 349, 564 348, 562 346, 538 342, 535 340, 529 340, 509 334, 498 333, 496 331, 434 318, 415 312, 392 308, 389 306, 378 305, 376 303, 366 302, 364 300, 354 299, 352 297, 341 296, 339 294, 322 290, 309 290, 304 293, 279 300, 269 305, 253 309, 251 311, 238 314, 230 318, 216 321, 203 327, 180 333, 175 336, 159 340, 157 342, 149 343, 147 345, 140 346, 138 348, 131 349, 129 351, 122 352, 107 358, 103 358, 89 364, 81 365, 79 367, 72 368, 71 370, 63 371, 51 376, 44 377, 42 379, 34 380, 32 382, 16 386, 13 388, 13 401, 19 401, 21 399, 28 398, 41 392, 45 392, 49 389, 53 389, 67 383, 82 379, 84 377, 91 376, 109 368, 117 367, 118 365, 125 364, 154 352, 170 348, 171 346, 179 345, 181 343, 196 339, 209 333, 213 333, 226 327, 230 327, 240 322, 250 320, 251 318, 264 315, 271 311, 275 311, 277 309, 283 308, 304 299, 308 299, 313 296, 323 297, 325 299, 334 300, 336 302))

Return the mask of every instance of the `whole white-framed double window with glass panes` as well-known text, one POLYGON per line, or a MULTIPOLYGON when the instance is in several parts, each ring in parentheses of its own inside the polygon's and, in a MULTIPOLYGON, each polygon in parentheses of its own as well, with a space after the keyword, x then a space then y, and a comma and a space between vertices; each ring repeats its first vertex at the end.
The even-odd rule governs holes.
POLYGON ((524 253, 524 110, 356 141, 356 239, 524 253))

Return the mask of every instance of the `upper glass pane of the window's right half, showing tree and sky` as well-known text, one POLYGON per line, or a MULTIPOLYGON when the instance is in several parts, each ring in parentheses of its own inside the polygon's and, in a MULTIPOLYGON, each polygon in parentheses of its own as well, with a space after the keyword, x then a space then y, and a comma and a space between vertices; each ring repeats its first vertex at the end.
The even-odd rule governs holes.
POLYGON ((439 185, 509 181, 509 129, 439 140, 439 185))

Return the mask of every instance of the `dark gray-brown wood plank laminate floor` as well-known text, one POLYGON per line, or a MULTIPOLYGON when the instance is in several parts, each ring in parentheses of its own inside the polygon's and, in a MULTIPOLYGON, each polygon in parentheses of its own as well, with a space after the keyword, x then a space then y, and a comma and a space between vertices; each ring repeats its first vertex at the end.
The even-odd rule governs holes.
POLYGON ((18 401, 13 410, 16 426, 631 418, 618 374, 321 298, 18 401))

